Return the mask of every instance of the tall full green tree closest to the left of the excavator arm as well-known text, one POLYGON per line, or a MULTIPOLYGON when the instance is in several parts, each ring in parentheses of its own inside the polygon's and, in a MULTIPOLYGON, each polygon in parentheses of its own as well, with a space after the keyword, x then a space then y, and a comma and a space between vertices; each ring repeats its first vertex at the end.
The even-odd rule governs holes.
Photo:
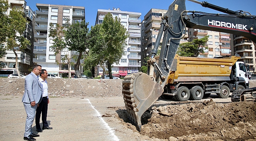
POLYGON ((109 78, 112 77, 112 65, 119 64, 122 55, 124 55, 124 47, 127 45, 128 31, 121 24, 121 19, 108 13, 104 16, 103 22, 100 25, 91 27, 90 31, 90 48, 87 64, 100 65, 105 76, 105 66, 108 67, 109 78))

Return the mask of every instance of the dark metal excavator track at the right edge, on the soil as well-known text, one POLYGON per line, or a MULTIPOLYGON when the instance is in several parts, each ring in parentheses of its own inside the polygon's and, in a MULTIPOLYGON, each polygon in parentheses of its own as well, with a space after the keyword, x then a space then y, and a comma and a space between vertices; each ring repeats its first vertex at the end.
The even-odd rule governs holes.
POLYGON ((243 90, 235 90, 231 96, 232 102, 256 101, 256 87, 243 90))

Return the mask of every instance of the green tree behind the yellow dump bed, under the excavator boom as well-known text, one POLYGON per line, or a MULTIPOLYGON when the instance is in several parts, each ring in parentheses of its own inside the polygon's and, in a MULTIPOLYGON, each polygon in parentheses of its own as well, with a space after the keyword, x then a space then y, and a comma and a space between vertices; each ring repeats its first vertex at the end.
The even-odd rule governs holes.
MULTIPOLYGON (((200 53, 204 53, 205 43, 207 43, 209 36, 201 39, 194 39, 192 42, 181 43, 178 48, 179 56, 198 57, 200 53), (201 48, 200 48, 201 47, 201 48)), ((205 47, 208 49, 208 47, 205 47)))

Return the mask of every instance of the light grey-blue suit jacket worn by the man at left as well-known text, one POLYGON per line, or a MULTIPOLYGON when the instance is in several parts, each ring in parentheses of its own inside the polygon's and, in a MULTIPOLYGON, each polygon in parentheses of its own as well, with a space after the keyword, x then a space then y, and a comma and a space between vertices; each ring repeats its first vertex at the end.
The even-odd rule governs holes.
POLYGON ((33 72, 25 78, 25 92, 22 97, 23 103, 40 103, 43 97, 43 87, 33 72))

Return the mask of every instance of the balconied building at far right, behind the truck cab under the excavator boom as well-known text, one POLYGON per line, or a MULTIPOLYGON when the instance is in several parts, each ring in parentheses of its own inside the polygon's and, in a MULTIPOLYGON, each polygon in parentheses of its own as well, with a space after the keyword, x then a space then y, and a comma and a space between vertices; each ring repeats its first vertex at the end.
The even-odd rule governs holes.
POLYGON ((250 39, 234 34, 234 48, 232 52, 239 54, 241 58, 238 61, 243 61, 250 66, 250 72, 255 72, 256 67, 256 45, 250 39))

